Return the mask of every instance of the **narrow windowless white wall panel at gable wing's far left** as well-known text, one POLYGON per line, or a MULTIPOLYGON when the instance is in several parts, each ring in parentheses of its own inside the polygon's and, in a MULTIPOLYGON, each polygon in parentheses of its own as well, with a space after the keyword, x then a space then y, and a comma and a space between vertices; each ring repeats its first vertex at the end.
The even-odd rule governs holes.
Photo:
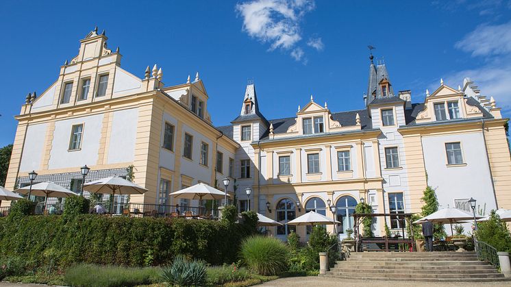
POLYGON ((47 123, 29 125, 23 154, 21 155, 20 173, 37 171, 42 161, 42 153, 45 149, 47 123))

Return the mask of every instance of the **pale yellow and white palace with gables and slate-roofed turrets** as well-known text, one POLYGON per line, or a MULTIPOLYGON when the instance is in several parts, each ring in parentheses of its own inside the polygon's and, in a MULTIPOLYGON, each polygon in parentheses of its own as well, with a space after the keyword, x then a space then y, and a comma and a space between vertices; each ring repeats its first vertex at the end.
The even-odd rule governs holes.
MULTIPOLYGON (((29 184, 34 170, 37 182, 79 190, 79 169, 87 164, 87 181, 134 171, 134 182, 149 192, 132 195, 132 203, 197 206, 169 194, 199 182, 223 189, 229 177, 240 212, 250 208, 286 223, 315 210, 340 221, 340 237, 353 228, 349 215, 360 201, 375 213, 421 212, 428 185, 444 208, 471 212, 472 197, 481 215, 511 209, 508 120, 471 79, 458 88, 440 80, 414 103, 410 90, 395 92, 386 65, 371 55, 360 110, 333 112, 310 96, 295 103, 296 114, 267 119, 250 82, 232 124, 216 127, 199 73, 165 86, 154 65, 140 79, 121 68, 119 48, 110 50, 107 39, 90 32, 55 82, 39 97, 27 96, 16 116, 6 188, 29 184)), ((402 224, 379 217, 373 229, 401 232, 402 224)), ((306 227, 271 233, 286 240, 292 229, 306 240, 306 227)))

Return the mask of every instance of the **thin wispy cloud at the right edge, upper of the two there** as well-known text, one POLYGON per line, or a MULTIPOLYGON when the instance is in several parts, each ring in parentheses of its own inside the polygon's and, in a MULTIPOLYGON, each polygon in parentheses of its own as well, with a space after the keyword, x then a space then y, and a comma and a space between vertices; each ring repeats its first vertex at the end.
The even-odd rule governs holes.
POLYGON ((511 52, 511 22, 479 25, 454 46, 473 56, 502 55, 511 52))

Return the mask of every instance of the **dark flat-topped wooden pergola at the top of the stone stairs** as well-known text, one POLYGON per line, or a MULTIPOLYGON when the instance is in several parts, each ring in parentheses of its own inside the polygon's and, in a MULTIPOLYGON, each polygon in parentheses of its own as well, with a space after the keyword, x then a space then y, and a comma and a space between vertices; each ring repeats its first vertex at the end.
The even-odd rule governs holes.
POLYGON ((415 240, 414 240, 414 234, 413 232, 411 232, 412 234, 412 238, 405 238, 405 225, 401 225, 401 232, 402 232, 402 238, 388 238, 387 236, 382 236, 382 237, 374 237, 374 238, 362 238, 362 235, 360 234, 360 231, 359 231, 359 225, 362 223, 362 221, 364 219, 366 219, 367 217, 371 217, 371 218, 374 218, 374 217, 384 217, 384 221, 386 223, 386 220, 387 220, 387 216, 392 216, 392 217, 397 217, 398 220, 404 220, 406 221, 406 223, 411 227, 412 226, 412 221, 411 221, 411 218, 412 218, 412 215, 413 213, 399 213, 399 214, 396 214, 396 213, 359 213, 359 214, 353 214, 353 232, 354 232, 354 235, 355 235, 355 240, 356 240, 356 252, 358 251, 362 251, 362 245, 364 243, 375 243, 375 244, 384 244, 385 245, 385 249, 375 249, 375 250, 371 250, 371 251, 389 251, 388 249, 388 245, 393 245, 393 244, 407 244, 409 246, 412 247, 412 250, 413 251, 416 251, 416 248, 415 248, 415 240))

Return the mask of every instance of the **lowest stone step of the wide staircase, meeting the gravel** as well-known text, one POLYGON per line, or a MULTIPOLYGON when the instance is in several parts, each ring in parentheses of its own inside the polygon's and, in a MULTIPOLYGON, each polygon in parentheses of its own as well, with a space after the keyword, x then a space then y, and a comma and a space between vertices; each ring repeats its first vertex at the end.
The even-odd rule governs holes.
MULTIPOLYGON (((364 277, 363 275, 333 275, 327 273, 326 275, 319 275, 321 277, 329 277, 332 279, 351 279, 351 280, 378 280, 378 281, 399 281, 402 282, 403 278, 390 278, 390 277, 364 277)), ((511 282, 511 278, 499 277, 499 278, 408 278, 410 282, 511 282)))

